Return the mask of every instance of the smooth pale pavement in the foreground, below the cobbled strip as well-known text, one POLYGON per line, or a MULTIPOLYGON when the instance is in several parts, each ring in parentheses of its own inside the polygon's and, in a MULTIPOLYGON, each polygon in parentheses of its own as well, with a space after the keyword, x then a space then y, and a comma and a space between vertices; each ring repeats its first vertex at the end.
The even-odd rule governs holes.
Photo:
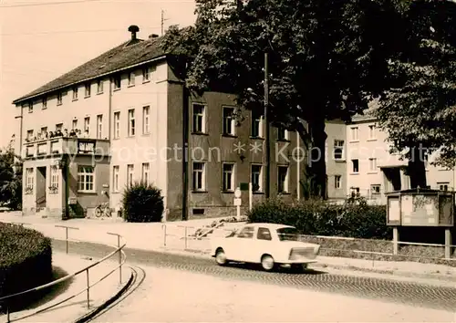
MULTIPOLYGON (((198 275, 165 267, 143 266, 143 269, 144 280, 135 286, 134 292, 109 308, 95 322, 456 321, 455 312, 410 307, 398 302, 265 285, 255 280, 233 280, 227 279, 226 275, 198 275)), ((371 283, 371 288, 383 285, 381 282, 371 283)), ((336 282, 335 287, 338 286, 336 282)))

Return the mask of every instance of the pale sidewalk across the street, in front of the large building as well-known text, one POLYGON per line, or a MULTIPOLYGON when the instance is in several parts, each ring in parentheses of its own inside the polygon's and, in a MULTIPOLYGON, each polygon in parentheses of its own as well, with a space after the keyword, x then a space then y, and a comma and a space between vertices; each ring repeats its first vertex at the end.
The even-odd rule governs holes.
MULTIPOLYGON (((65 230, 55 225, 77 227, 79 230, 69 230, 70 239, 78 239, 104 245, 117 245, 117 237, 107 234, 122 235, 130 249, 141 249, 186 255, 199 255, 209 257, 210 241, 208 238, 194 240, 184 238, 194 233, 204 224, 211 224, 216 219, 202 219, 178 221, 172 223, 130 224, 114 221, 72 219, 60 221, 56 219, 42 219, 36 216, 21 216, 15 214, 0 214, 0 221, 23 222, 43 234, 55 238, 65 239, 65 230), (187 226, 185 229, 184 226, 187 226), (165 237, 166 227, 166 237, 165 237)), ((221 229, 223 230, 223 229, 221 229)), ((421 264, 415 262, 389 262, 372 261, 366 259, 353 259, 343 257, 319 256, 318 262, 312 264, 314 268, 335 268, 354 271, 373 272, 378 274, 391 274, 397 276, 442 279, 456 282, 456 267, 435 264, 421 264)))

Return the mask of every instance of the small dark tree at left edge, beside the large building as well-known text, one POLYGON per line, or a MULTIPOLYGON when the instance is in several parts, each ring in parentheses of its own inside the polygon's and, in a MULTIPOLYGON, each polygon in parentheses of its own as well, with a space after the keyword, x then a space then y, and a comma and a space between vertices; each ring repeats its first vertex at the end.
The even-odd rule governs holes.
POLYGON ((0 204, 13 210, 22 208, 22 162, 10 143, 0 151, 0 204))

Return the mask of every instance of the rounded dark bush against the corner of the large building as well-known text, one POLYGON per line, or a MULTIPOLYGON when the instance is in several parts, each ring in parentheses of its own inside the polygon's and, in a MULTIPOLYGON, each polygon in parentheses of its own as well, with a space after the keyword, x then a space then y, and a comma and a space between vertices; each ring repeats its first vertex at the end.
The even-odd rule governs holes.
POLYGON ((123 193, 123 216, 127 222, 161 222, 163 197, 152 185, 135 182, 123 193))

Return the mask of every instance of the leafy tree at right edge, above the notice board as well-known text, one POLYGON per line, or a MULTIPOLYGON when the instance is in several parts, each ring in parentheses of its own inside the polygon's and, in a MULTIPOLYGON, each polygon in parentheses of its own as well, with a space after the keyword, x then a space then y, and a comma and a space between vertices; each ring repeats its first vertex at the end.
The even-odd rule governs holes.
POLYGON ((440 163, 456 160, 456 5, 450 1, 410 4, 407 42, 391 59, 395 86, 379 100, 376 115, 394 151, 409 160, 412 188, 426 186, 424 157, 440 151, 440 163))

